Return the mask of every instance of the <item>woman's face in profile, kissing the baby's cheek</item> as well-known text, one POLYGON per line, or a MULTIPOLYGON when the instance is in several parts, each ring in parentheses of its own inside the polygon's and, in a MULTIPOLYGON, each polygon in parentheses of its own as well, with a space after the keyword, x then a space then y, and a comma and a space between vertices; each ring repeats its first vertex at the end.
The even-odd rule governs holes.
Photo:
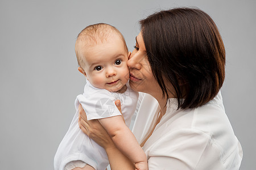
MULTIPOLYGON (((133 90, 145 92, 152 96, 159 93, 160 87, 152 74, 141 32, 136 37, 136 45, 127 65, 130 70, 130 86, 133 90)), ((160 92, 162 91, 160 90, 160 92)))

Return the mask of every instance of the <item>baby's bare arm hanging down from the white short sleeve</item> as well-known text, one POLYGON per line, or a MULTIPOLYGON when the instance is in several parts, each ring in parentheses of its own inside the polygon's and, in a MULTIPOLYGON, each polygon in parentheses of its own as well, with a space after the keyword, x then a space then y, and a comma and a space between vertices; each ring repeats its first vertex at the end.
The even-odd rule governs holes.
POLYGON ((122 116, 101 118, 99 121, 108 131, 118 149, 135 163, 137 169, 148 169, 146 154, 139 146, 131 130, 126 126, 122 116))

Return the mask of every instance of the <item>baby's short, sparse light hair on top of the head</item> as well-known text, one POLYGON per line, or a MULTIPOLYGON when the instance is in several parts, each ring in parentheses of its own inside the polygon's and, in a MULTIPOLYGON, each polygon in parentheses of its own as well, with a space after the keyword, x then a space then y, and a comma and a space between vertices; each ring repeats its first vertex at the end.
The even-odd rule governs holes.
POLYGON ((82 48, 102 43, 108 40, 108 37, 113 35, 113 33, 122 39, 123 45, 128 52, 125 38, 117 28, 105 23, 88 25, 77 36, 75 51, 78 65, 81 66, 83 62, 80 54, 82 48))

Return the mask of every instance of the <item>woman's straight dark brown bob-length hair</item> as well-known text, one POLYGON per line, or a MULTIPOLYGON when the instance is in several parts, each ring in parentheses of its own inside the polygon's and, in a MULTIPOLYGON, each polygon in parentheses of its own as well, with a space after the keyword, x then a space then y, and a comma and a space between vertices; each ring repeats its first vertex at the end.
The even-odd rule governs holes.
POLYGON ((225 48, 212 18, 196 8, 174 8, 140 23, 163 97, 168 99, 172 88, 164 84, 167 80, 175 90, 178 108, 196 108, 212 100, 225 78, 225 48))

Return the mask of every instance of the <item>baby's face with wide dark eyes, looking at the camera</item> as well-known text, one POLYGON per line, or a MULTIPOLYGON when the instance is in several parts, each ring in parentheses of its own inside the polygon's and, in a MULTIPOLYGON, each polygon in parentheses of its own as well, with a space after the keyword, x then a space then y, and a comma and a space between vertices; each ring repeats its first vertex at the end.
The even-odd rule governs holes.
POLYGON ((84 71, 89 82, 110 92, 120 90, 129 79, 128 53, 118 36, 91 45, 82 53, 84 71))

